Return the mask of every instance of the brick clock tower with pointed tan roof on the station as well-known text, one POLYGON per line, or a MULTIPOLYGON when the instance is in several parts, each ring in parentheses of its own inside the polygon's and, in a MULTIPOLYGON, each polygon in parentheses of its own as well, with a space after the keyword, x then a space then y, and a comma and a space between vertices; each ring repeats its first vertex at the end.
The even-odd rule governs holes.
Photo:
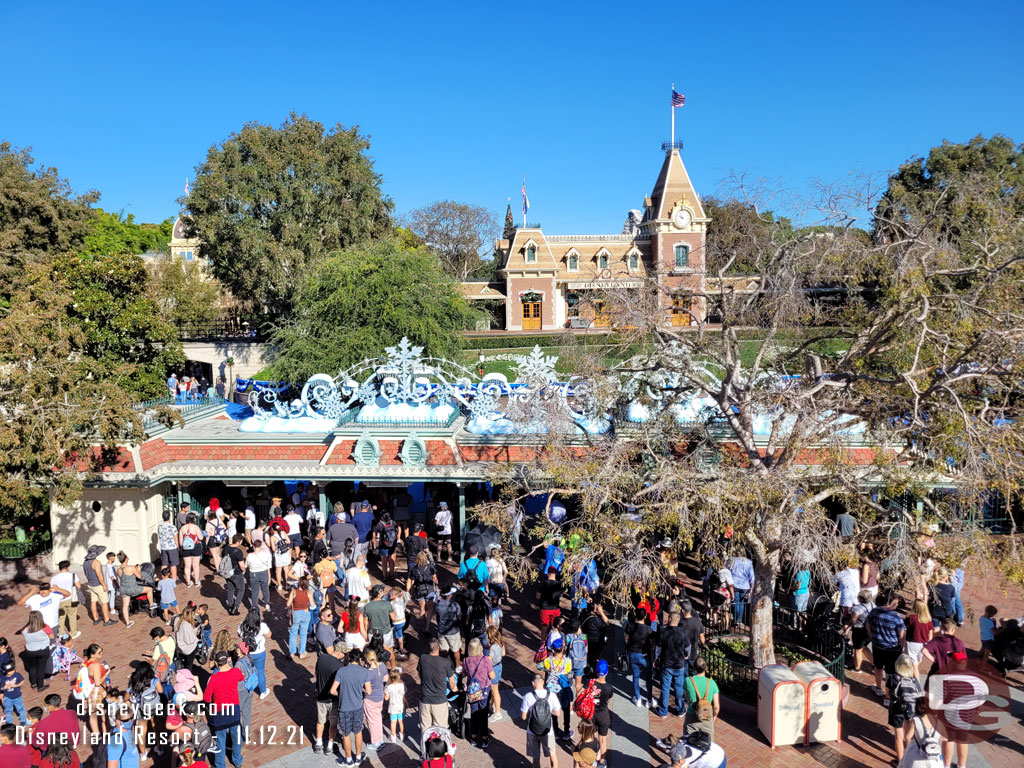
POLYGON ((682 141, 663 145, 665 163, 644 201, 641 226, 650 237, 651 260, 667 310, 666 325, 689 326, 705 316, 705 238, 709 219, 693 189, 679 151, 682 141))

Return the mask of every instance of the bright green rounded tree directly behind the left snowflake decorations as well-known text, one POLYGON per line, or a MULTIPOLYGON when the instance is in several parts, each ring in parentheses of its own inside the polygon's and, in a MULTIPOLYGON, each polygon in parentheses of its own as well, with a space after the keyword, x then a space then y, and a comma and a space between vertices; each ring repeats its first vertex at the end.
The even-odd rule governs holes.
POLYGON ((383 239, 324 259, 299 285, 289 321, 271 339, 270 375, 302 382, 380 353, 409 337, 427 354, 458 351, 469 306, 425 248, 383 239))

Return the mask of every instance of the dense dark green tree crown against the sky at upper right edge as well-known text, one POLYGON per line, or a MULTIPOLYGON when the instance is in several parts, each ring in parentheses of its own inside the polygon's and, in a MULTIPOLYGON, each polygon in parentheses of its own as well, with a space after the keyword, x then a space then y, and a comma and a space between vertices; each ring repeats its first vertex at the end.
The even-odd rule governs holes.
POLYGON ((1024 216, 1024 144, 978 134, 967 143, 943 141, 889 177, 874 210, 873 234, 892 242, 908 223, 927 222, 968 256, 1000 227, 994 211, 1024 216))

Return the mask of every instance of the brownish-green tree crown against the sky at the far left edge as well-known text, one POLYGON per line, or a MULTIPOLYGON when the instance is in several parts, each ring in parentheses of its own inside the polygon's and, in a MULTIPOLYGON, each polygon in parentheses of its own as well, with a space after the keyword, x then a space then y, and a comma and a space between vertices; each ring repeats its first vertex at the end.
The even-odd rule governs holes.
POLYGON ((76 196, 55 168, 35 167, 28 148, 0 141, 0 308, 30 268, 51 254, 80 250, 99 194, 76 196))

